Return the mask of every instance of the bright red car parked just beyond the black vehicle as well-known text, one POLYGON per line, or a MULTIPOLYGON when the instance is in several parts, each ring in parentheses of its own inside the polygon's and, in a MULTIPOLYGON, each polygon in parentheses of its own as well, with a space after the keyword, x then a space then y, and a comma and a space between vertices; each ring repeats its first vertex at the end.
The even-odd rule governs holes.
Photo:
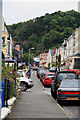
POLYGON ((42 83, 44 86, 51 86, 52 80, 54 79, 55 73, 48 72, 44 74, 42 78, 42 83))

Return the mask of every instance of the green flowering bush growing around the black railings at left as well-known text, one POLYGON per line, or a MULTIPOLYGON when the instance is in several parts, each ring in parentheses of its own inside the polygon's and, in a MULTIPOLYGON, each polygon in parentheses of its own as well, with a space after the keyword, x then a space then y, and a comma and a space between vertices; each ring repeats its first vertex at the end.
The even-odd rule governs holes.
MULTIPOLYGON (((4 81, 5 77, 9 77, 10 88, 9 88, 9 98, 15 96, 16 97, 16 86, 15 86, 15 79, 19 77, 17 75, 17 71, 14 70, 14 67, 7 66, 5 67, 5 62, 2 60, 2 81, 4 81)), ((6 97, 7 92, 5 92, 6 97)))

